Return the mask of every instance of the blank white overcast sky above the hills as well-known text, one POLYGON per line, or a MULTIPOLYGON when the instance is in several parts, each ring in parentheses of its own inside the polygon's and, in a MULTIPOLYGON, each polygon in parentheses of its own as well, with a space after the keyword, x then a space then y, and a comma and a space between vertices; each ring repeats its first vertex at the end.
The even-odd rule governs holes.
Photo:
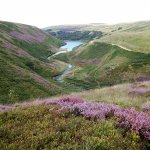
POLYGON ((150 20, 150 0, 0 0, 0 20, 40 28, 150 20))

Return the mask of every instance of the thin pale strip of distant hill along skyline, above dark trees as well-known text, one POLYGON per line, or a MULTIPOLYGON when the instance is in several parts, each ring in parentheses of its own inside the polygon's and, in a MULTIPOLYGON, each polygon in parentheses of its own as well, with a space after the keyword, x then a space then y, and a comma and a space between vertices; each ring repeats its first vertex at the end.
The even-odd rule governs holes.
POLYGON ((57 25, 49 26, 43 30, 52 29, 53 31, 102 31, 105 33, 114 32, 119 30, 149 30, 150 21, 138 21, 129 23, 118 23, 118 24, 105 24, 105 23, 90 23, 90 24, 76 24, 76 25, 57 25))

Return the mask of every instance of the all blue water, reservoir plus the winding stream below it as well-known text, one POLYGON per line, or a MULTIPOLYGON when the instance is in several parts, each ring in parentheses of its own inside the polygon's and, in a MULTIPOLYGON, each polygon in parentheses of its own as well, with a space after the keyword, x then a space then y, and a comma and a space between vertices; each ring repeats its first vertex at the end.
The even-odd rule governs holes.
MULTIPOLYGON (((66 42, 66 45, 62 46, 61 48, 66 49, 68 52, 70 52, 73 50, 74 47, 77 47, 81 44, 82 44, 82 42, 80 42, 80 41, 69 41, 69 42, 66 42)), ((59 54, 60 54, 60 52, 58 52, 55 55, 59 55, 59 54)), ((72 67, 73 67, 72 64, 68 64, 66 70, 59 76, 55 77, 55 79, 59 82, 63 82, 63 77, 70 72, 72 67)))

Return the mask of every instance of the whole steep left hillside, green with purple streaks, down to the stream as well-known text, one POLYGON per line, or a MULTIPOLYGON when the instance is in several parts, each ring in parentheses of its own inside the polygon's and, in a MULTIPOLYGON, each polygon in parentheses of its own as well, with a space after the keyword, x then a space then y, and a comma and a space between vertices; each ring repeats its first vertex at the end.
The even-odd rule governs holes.
POLYGON ((61 93, 52 78, 65 65, 47 59, 61 44, 36 27, 0 22, 0 103, 61 93))

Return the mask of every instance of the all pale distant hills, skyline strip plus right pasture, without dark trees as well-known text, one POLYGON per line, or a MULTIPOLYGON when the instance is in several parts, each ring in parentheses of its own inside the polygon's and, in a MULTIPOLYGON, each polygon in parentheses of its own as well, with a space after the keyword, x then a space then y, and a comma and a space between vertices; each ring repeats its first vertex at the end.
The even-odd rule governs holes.
POLYGON ((150 21, 120 23, 114 25, 100 23, 87 25, 61 25, 45 29, 51 29, 54 32, 102 32, 103 34, 101 36, 96 36, 97 40, 100 42, 119 44, 134 51, 150 53, 150 21))

